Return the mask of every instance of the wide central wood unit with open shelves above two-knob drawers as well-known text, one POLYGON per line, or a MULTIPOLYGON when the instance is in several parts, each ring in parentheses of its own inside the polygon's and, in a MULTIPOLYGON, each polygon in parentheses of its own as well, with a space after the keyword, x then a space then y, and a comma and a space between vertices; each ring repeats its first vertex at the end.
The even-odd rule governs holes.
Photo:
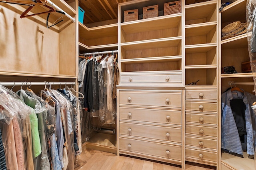
POLYGON ((182 14, 123 21, 124 10, 168 1, 119 4, 118 154, 184 166, 182 14))

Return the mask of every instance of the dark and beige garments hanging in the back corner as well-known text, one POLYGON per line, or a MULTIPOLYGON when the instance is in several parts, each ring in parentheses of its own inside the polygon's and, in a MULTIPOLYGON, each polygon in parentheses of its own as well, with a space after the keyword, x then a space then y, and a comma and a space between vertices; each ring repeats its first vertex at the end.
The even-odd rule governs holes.
MULTIPOLYGON (((117 57, 117 55, 116 55, 117 57)), ((115 124, 118 63, 114 55, 86 57, 79 62, 78 81, 82 100, 82 136, 87 141, 104 124, 115 124), (92 132, 92 133, 91 133, 92 132)))

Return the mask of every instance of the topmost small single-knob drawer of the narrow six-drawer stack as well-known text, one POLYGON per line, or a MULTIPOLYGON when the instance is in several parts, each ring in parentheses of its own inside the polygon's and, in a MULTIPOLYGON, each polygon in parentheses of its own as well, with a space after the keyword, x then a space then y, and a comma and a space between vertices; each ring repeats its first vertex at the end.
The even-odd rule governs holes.
POLYGON ((216 90, 186 90, 186 99, 217 100, 216 90))

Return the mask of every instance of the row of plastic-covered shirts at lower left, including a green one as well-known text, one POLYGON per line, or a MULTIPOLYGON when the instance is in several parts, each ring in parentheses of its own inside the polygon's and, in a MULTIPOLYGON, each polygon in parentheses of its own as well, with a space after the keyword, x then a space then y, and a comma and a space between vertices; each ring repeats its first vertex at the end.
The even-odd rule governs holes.
POLYGON ((82 152, 79 100, 67 87, 40 95, 0 86, 1 169, 74 170, 82 152))

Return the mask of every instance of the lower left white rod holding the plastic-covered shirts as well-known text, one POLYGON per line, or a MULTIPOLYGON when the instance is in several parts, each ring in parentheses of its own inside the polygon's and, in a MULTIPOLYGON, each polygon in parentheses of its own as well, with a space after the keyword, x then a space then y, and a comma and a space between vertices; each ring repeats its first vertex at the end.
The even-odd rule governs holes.
POLYGON ((75 82, 0 82, 2 86, 45 86, 45 85, 75 85, 75 82))

